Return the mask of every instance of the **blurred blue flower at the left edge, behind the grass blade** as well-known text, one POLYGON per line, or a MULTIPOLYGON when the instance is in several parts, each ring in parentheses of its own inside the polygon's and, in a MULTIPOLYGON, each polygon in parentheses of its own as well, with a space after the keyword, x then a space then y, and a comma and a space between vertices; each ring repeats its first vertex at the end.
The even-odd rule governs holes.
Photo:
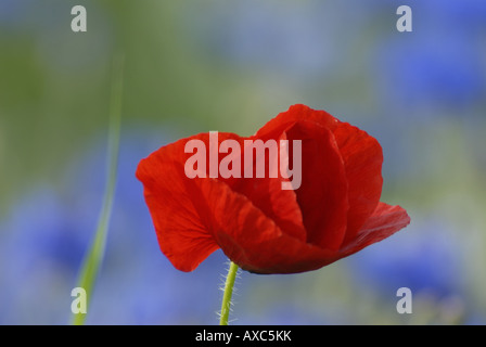
POLYGON ((73 217, 69 205, 43 189, 23 198, 2 224, 0 323, 62 323, 57 308, 69 309, 67 285, 89 236, 82 231, 92 230, 89 220, 73 217))

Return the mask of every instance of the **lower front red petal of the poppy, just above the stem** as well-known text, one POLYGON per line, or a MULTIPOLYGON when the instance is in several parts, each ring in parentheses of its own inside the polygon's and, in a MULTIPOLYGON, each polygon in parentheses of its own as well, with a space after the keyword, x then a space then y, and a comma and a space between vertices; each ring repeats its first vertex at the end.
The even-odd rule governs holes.
POLYGON ((213 230, 222 252, 240 268, 255 273, 296 273, 319 269, 338 259, 337 252, 322 249, 281 231, 273 220, 244 195, 220 181, 201 180, 213 230))

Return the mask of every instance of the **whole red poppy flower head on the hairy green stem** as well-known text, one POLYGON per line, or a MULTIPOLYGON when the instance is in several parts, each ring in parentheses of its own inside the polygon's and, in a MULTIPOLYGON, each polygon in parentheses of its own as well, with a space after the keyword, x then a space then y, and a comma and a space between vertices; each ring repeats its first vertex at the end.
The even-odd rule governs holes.
MULTIPOLYGON (((380 202, 383 154, 367 132, 324 111, 294 105, 255 136, 220 132, 217 144, 225 140, 240 144, 241 153, 232 154, 241 156, 243 167, 245 140, 270 139, 300 141, 297 189, 282 189, 290 181, 282 176, 215 178, 207 166, 199 168, 202 175, 189 178, 184 167, 193 154, 186 153, 186 145, 200 140, 210 146, 208 133, 163 146, 140 162, 137 177, 144 185, 159 247, 177 269, 192 271, 221 248, 251 272, 310 271, 410 222, 404 208, 380 202)), ((226 156, 206 158, 219 165, 226 156)))

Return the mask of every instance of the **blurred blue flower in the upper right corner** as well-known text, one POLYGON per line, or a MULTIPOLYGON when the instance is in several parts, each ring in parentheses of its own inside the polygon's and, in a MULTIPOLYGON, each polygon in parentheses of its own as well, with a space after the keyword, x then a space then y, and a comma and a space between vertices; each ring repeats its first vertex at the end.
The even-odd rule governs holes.
POLYGON ((433 2, 412 7, 412 33, 396 33, 375 50, 376 87, 400 117, 461 117, 484 100, 484 1, 433 2))

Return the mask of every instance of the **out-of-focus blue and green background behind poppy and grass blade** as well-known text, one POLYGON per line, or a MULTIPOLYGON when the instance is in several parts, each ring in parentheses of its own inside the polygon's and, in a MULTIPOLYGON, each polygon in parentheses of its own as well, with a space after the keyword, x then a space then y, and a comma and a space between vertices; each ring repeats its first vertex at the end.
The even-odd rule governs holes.
POLYGON ((241 272, 232 323, 486 323, 486 1, 0 0, 0 324, 71 322, 119 52, 118 180, 87 323, 218 323, 227 259, 171 267, 137 164, 193 133, 252 134, 295 103, 381 142, 382 201, 412 221, 318 271, 241 272), (71 30, 76 4, 87 33, 71 30), (401 4, 412 33, 396 29, 401 4))

